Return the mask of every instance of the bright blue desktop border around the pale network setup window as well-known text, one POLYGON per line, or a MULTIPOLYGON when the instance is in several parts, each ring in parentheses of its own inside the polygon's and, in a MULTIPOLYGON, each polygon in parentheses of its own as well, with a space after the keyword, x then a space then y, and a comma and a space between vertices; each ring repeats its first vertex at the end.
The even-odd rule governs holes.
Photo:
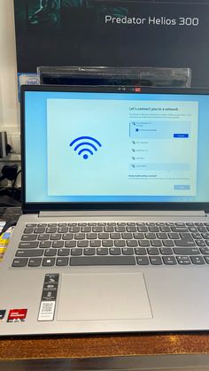
MULTIPOLYGON (((209 201, 209 96, 72 92, 25 92, 26 202, 208 202, 209 201), (197 196, 49 196, 47 191, 47 99, 120 99, 198 101, 197 196)), ((74 176, 74 174, 66 174, 74 176)))

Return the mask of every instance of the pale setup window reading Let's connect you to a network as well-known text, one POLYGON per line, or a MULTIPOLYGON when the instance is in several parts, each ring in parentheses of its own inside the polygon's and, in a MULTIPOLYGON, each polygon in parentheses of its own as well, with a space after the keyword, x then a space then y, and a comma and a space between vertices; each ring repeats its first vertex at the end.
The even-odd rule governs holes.
POLYGON ((197 115, 197 102, 49 99, 48 194, 195 196, 197 115))

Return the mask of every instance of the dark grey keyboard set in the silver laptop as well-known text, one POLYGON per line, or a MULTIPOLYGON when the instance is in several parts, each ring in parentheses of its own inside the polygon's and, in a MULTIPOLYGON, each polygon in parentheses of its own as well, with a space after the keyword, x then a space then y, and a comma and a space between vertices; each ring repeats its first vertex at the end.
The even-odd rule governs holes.
POLYGON ((209 264, 209 222, 26 225, 12 267, 209 264))

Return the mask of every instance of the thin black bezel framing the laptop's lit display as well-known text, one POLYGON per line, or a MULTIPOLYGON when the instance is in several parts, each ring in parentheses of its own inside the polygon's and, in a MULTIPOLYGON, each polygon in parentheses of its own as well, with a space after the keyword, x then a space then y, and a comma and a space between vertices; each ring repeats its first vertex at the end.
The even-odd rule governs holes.
MULTIPOLYGON (((25 148, 25 93, 27 91, 49 92, 102 92, 120 94, 188 94, 209 95, 209 89, 175 89, 175 88, 139 88, 128 86, 58 86, 58 85, 23 85, 20 91, 20 130, 21 130, 21 182, 23 213, 38 213, 40 211, 86 211, 86 210, 209 210, 208 202, 100 202, 100 203, 31 203, 26 200, 26 148, 25 148)), ((209 198, 209 197, 208 197, 209 198)))

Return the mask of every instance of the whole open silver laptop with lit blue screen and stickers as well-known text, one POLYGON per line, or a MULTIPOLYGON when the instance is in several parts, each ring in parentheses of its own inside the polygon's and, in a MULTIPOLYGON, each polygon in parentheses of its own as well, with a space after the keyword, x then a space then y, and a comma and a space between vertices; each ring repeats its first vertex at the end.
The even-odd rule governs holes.
POLYGON ((25 86, 0 334, 209 329, 209 89, 25 86))

